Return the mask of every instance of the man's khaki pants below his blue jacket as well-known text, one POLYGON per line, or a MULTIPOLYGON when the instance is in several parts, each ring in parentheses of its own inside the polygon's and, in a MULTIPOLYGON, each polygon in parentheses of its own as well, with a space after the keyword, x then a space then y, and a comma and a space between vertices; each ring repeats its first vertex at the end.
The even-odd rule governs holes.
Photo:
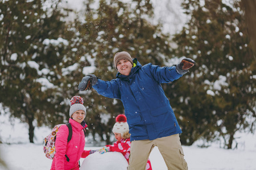
POLYGON ((187 170, 179 134, 158 139, 131 141, 131 154, 127 170, 145 170, 150 152, 157 146, 168 170, 187 170))

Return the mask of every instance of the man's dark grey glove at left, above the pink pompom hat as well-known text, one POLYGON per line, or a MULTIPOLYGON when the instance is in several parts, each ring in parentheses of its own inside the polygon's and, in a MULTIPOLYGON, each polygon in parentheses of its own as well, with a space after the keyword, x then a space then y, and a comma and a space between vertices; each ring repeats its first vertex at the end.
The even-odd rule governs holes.
POLYGON ((79 90, 90 90, 98 82, 98 78, 94 74, 84 76, 79 83, 79 90))

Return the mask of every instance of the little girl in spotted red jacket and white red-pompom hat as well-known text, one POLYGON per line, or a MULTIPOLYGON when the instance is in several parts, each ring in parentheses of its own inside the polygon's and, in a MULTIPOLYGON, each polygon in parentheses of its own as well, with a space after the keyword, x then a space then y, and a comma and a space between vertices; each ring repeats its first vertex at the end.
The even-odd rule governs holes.
MULTIPOLYGON (((104 154, 105 152, 121 152, 129 163, 131 142, 126 116, 119 114, 115 121, 116 123, 112 131, 115 135, 115 139, 117 139, 117 142, 115 142, 113 145, 106 145, 105 147, 101 148, 99 153, 104 154)), ((149 159, 147 160, 146 170, 152 170, 149 159)))

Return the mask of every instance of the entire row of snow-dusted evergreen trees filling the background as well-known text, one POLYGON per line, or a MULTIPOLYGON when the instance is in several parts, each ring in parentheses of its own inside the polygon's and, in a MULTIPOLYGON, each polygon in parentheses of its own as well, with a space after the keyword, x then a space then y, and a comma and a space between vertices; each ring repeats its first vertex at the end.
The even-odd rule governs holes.
POLYGON ((114 117, 124 113, 121 101, 77 87, 86 74, 115 78, 113 58, 122 50, 142 65, 173 65, 184 56, 196 61, 183 78, 162 84, 183 145, 222 138, 232 148, 237 131, 255 131, 256 62, 240 1, 183 1, 191 19, 174 36, 173 49, 161 25, 149 22, 149 0, 87 0, 69 22, 71 10, 61 3, 0 1, 0 102, 27 122, 30 142, 35 126, 67 122, 69 99, 80 95, 90 133, 110 143, 114 117))

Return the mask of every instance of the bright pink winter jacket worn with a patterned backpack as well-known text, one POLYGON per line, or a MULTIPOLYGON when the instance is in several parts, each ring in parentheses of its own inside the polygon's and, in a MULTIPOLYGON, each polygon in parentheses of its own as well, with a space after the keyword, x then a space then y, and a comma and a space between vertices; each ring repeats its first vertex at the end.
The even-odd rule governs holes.
POLYGON ((84 150, 85 136, 82 129, 87 127, 85 121, 79 124, 79 122, 69 118, 69 123, 72 126, 71 141, 68 142, 68 126, 60 126, 56 135, 56 153, 52 161, 51 170, 79 169, 80 158, 86 158, 89 155, 90 150, 84 150), (65 155, 68 156, 69 162, 67 162, 65 155))

